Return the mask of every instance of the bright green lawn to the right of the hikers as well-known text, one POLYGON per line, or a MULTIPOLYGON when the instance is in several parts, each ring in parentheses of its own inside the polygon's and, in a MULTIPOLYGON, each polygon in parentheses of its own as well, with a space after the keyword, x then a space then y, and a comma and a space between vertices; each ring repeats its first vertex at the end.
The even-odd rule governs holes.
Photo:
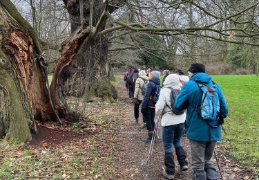
POLYGON ((222 147, 243 164, 259 172, 259 78, 255 75, 215 75, 229 107, 222 147))

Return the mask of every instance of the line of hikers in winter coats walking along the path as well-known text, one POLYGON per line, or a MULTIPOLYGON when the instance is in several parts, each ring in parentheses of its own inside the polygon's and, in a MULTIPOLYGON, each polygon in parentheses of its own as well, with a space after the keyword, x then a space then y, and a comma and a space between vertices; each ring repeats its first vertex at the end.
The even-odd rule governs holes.
MULTIPOLYGON (((188 76, 181 69, 173 73, 164 70, 160 86, 160 71, 129 68, 124 73, 128 97, 133 99, 135 122, 139 123, 139 107, 147 129, 145 143, 154 138, 155 114, 161 117, 164 164, 162 174, 174 179, 175 155, 180 172, 188 170, 186 151, 181 143, 184 133, 191 147, 193 179, 218 179, 211 164, 215 145, 221 141, 221 125, 228 108, 220 86, 211 80, 201 63, 193 63, 188 76)), ((159 120, 159 118, 157 118, 159 120)), ((154 142, 156 142, 154 140, 154 142)))

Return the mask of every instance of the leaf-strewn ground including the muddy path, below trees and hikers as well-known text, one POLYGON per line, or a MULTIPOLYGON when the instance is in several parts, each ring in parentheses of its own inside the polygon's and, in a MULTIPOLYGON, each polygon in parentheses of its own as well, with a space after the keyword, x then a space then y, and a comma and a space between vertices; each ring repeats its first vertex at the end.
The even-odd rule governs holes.
MULTIPOLYGON (((119 78, 119 99, 115 103, 89 103, 91 115, 78 123, 38 124, 39 133, 26 145, 0 143, 0 179, 164 179, 162 141, 155 143, 148 165, 149 145, 143 143, 146 129, 135 123, 133 102, 126 96, 124 81, 119 78)), ((161 127, 158 128, 160 139, 161 127)), ((191 179, 189 141, 182 143, 188 154, 189 170, 175 179, 191 179)), ((223 179, 258 179, 245 167, 216 148, 223 179)), ((176 158, 175 158, 176 160, 176 158)), ((212 163, 218 168, 213 156, 212 163)), ((258 175, 257 175, 258 177, 258 175)))

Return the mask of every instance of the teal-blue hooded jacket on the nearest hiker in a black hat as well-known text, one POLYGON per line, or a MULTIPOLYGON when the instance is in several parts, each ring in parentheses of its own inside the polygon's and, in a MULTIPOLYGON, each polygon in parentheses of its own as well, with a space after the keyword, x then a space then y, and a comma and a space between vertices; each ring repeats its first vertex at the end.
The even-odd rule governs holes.
MULTIPOLYGON (((195 81, 202 82, 202 84, 207 86, 213 84, 211 77, 206 73, 195 73, 188 82, 184 83, 182 90, 176 98, 175 109, 178 111, 187 109, 186 136, 192 141, 221 141, 221 125, 210 127, 200 114, 198 114, 198 111, 194 109, 194 107, 200 107, 202 100, 202 91, 195 81)), ((220 100, 220 114, 225 118, 229 110, 218 84, 216 84, 216 91, 220 100)))

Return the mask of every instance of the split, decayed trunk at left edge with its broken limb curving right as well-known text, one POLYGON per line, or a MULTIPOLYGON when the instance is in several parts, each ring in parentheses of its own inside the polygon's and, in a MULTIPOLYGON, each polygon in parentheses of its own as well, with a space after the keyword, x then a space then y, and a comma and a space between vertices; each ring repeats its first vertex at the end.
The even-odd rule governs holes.
POLYGON ((0 1, 0 28, 0 136, 30 141, 35 120, 66 117, 59 75, 84 44, 88 28, 75 30, 63 46, 50 88, 39 39, 9 0, 0 1))

